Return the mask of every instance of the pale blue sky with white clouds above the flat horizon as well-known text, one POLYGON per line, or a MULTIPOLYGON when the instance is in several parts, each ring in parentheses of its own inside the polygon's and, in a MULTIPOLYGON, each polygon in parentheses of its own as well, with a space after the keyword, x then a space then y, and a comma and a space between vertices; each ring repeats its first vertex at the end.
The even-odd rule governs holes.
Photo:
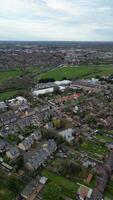
POLYGON ((113 41, 113 0, 0 0, 0 40, 113 41))

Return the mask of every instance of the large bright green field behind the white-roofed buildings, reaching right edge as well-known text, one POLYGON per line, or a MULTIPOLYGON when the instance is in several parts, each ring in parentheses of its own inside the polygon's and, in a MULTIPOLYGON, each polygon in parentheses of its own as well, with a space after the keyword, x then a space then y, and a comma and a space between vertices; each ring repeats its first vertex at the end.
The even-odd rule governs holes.
POLYGON ((88 78, 95 77, 97 75, 107 76, 113 74, 113 66, 101 65, 101 66, 65 66, 57 68, 40 76, 40 79, 54 78, 55 80, 62 80, 63 78, 88 78))

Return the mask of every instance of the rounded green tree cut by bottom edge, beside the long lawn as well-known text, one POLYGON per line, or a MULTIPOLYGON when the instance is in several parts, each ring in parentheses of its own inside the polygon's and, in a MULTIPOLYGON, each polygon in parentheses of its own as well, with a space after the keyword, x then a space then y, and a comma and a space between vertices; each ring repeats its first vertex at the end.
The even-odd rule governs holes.
POLYGON ((48 183, 48 185, 44 188, 43 191, 43 199, 61 200, 61 188, 52 182, 48 183))

